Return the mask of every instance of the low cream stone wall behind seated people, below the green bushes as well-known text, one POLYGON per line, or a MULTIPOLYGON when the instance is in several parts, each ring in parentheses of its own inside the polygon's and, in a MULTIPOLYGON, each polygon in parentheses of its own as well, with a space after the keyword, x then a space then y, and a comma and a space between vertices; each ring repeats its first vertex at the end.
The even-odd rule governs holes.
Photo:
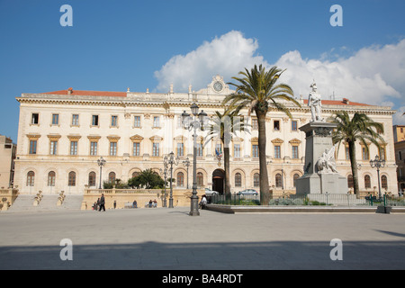
MULTIPOLYGON (((192 189, 173 189, 173 205, 175 207, 190 206, 192 189)), ((144 208, 150 200, 157 201, 157 207, 163 207, 165 192, 162 189, 85 189, 82 210, 92 210, 94 202, 97 202, 104 194, 105 209, 113 209, 114 201, 116 209, 125 208, 125 204, 137 202, 138 208, 144 208)), ((201 197, 203 191, 199 190, 201 197)), ((169 205, 170 190, 166 189, 166 205, 169 205)))

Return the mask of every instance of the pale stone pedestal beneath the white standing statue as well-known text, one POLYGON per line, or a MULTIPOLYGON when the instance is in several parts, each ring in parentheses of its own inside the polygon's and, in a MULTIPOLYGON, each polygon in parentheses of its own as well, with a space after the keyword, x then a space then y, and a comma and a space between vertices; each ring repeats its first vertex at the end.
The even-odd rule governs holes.
MULTIPOLYGON (((304 175, 296 180, 296 193, 347 193, 347 179, 335 172, 319 171, 317 162, 322 154, 333 147, 334 123, 311 121, 300 127, 305 132, 304 175)), ((333 159, 335 159, 333 157, 333 159)))

